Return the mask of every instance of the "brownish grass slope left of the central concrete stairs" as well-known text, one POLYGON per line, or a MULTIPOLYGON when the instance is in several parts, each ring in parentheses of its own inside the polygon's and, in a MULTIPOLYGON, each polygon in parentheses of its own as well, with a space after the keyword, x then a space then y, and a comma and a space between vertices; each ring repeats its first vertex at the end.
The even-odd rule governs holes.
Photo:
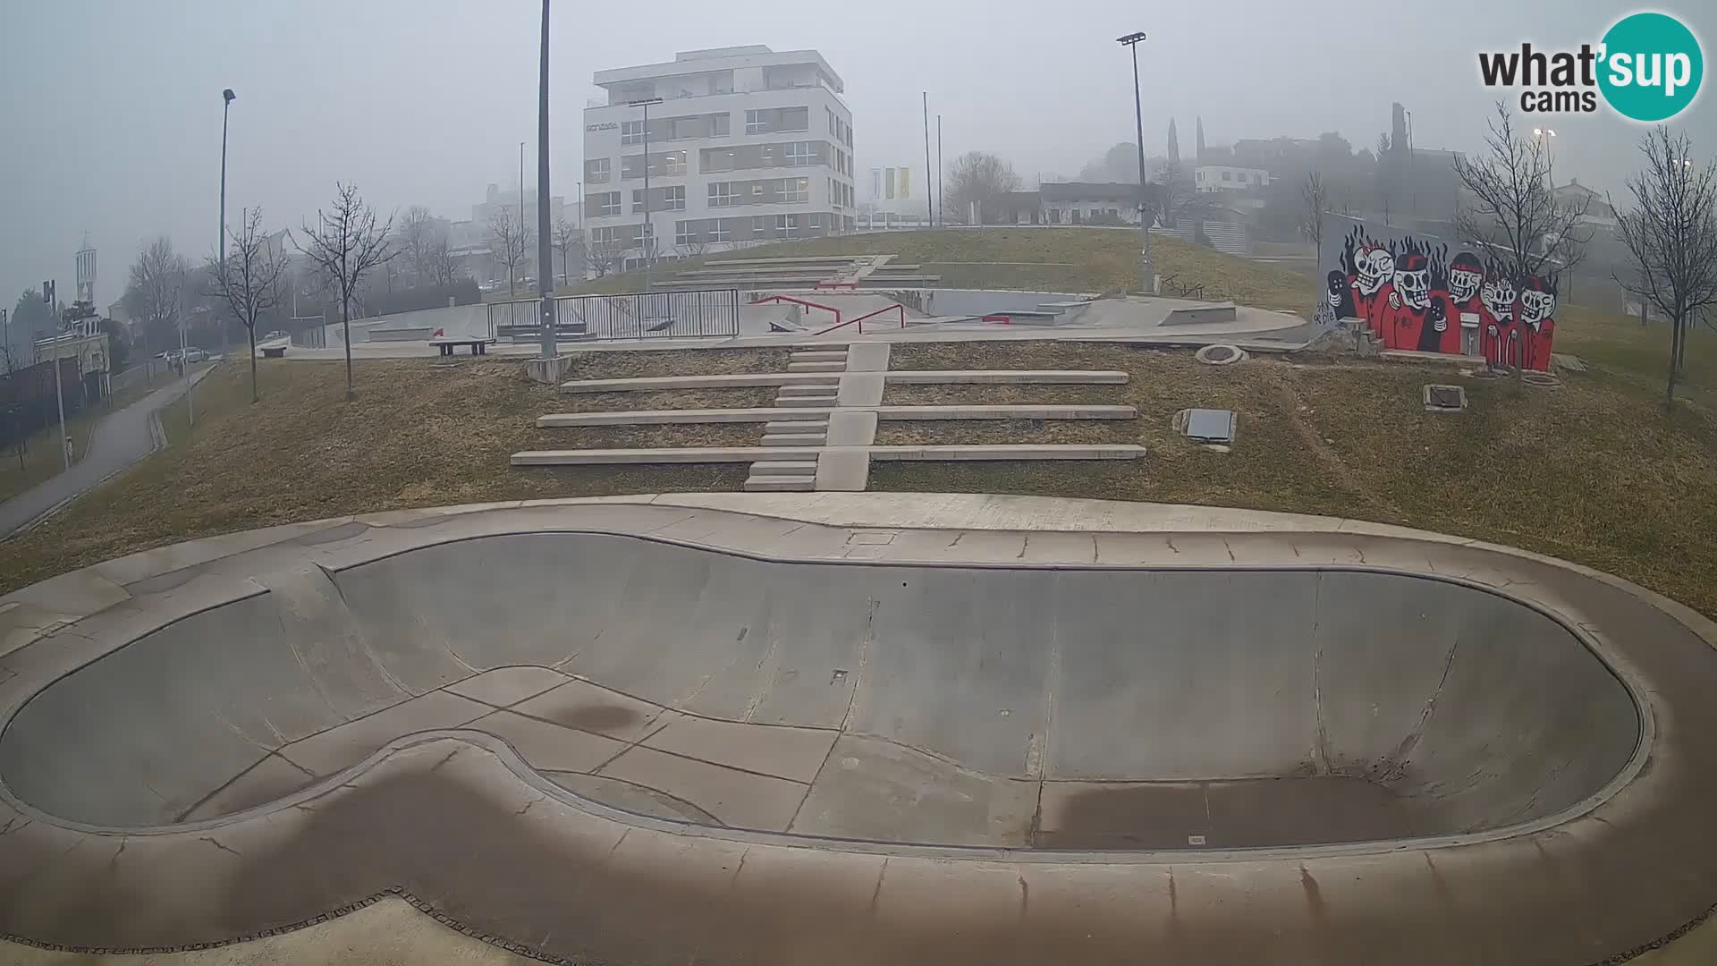
MULTIPOLYGON (((592 354, 585 378, 652 375, 654 352, 592 354)), ((721 352, 711 371, 773 370, 764 354, 721 352)), ((161 414, 173 445, 96 488, 64 514, 5 543, 0 593, 52 574, 196 536, 397 507, 652 490, 738 490, 747 468, 513 469, 522 449, 725 445, 755 442, 759 426, 537 430, 536 416, 601 409, 613 400, 531 383, 524 363, 364 361, 359 402, 345 404, 340 363, 263 361, 263 400, 249 404, 249 370, 221 364, 197 387, 197 423, 179 402, 161 414)), ((749 390, 725 390, 749 392, 749 390)), ((773 397, 773 390, 762 390, 773 397)), ((652 406, 689 400, 646 394, 652 406)), ((743 399, 695 404, 745 406, 743 399)))

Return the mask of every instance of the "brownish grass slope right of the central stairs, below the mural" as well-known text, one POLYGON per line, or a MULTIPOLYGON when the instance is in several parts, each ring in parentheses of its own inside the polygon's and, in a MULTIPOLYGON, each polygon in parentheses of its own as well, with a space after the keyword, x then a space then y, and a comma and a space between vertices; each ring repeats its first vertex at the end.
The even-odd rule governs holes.
MULTIPOLYGON (((1137 406, 1137 423, 1085 431, 1137 442, 1149 455, 1078 466, 877 464, 874 490, 1162 500, 1398 523, 1590 564, 1717 615, 1717 416, 1688 406, 1671 421, 1652 394, 1621 376, 1573 375, 1561 388, 1533 390, 1396 363, 1209 368, 1119 345, 1004 342, 896 347, 896 363, 943 368, 955 352, 980 368, 1133 373, 1126 387, 1080 387, 1078 399, 1053 399, 1054 387, 1042 387, 1032 399, 1137 406), (1465 385, 1468 411, 1425 413, 1427 382, 1465 385), (1169 430, 1173 413, 1190 406, 1240 413, 1233 452, 1169 430)), ((970 399, 992 400, 979 392, 970 399)), ((927 431, 920 426, 913 438, 950 442, 927 431)))

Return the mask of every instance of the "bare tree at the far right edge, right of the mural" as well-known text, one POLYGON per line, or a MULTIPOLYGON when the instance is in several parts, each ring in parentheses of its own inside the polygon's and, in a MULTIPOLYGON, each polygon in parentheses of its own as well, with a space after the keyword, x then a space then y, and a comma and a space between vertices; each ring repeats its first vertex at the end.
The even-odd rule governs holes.
POLYGON ((1665 404, 1676 402, 1676 378, 1686 373, 1688 330, 1698 316, 1717 306, 1717 174, 1712 165, 1693 162, 1693 141, 1657 127, 1640 143, 1645 170, 1628 179, 1633 208, 1619 213, 1619 234, 1638 275, 1623 282, 1671 323, 1669 388, 1665 404))

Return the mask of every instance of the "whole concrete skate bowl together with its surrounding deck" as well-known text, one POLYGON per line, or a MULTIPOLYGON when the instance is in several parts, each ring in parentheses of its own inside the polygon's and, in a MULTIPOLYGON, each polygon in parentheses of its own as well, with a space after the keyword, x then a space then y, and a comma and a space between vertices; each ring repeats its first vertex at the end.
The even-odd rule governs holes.
POLYGON ((1599 963, 1717 899, 1714 645, 1547 557, 1198 507, 216 536, 0 598, 0 932, 175 949, 403 889, 628 964, 1599 963))

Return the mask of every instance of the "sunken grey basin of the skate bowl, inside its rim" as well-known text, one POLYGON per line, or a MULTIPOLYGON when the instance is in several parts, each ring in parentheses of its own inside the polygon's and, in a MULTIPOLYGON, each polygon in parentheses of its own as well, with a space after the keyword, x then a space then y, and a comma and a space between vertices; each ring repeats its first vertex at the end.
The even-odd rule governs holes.
POLYGON ((220 823, 412 736, 489 736, 567 801, 690 825, 1394 847, 1578 815, 1648 734, 1581 634, 1430 576, 769 562, 519 533, 254 579, 26 701, 0 734, 5 789, 89 827, 220 823))

